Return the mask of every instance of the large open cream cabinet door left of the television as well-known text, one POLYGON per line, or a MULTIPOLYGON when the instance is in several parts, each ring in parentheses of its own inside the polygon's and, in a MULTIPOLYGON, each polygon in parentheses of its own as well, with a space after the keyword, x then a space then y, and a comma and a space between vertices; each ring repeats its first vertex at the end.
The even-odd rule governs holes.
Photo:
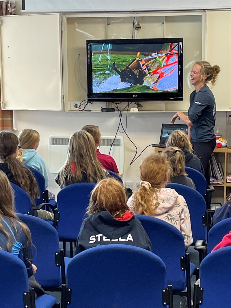
POLYGON ((59 14, 0 18, 3 110, 62 110, 59 14))

